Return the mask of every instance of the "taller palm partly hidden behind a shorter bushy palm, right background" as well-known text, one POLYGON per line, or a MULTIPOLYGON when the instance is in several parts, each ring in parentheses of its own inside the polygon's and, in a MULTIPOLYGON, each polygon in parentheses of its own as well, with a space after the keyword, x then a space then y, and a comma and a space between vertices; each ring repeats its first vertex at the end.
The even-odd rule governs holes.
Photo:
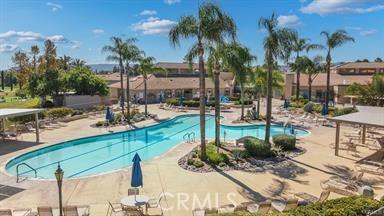
MULTIPOLYGON (((309 39, 300 38, 297 32, 293 32, 291 35, 291 49, 296 54, 296 59, 300 58, 300 53, 304 50, 309 52, 314 49, 323 49, 324 47, 320 44, 309 43, 309 39)), ((296 100, 299 100, 300 96, 300 70, 296 70, 296 100)))

